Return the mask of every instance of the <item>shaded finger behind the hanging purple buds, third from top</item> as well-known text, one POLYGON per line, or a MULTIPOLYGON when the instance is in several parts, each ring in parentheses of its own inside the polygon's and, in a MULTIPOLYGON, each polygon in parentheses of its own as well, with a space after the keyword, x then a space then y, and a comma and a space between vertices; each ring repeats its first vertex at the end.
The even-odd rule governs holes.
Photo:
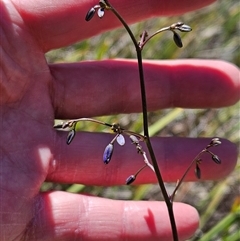
MULTIPOLYGON (((135 174, 144 165, 143 157, 137 154, 136 147, 126 137, 126 144, 114 144, 114 151, 108 165, 103 162, 105 147, 113 135, 104 133, 77 133, 70 145, 66 144, 65 132, 58 132, 51 148, 52 156, 46 180, 61 183, 82 183, 85 185, 124 185, 128 176, 135 174)), ((200 138, 153 138, 153 148, 159 168, 166 182, 176 182, 189 167, 195 156, 205 148, 210 139, 200 138)), ((217 180, 227 176, 235 167, 237 148, 227 140, 212 148, 222 160, 216 164, 211 155, 202 156, 201 180, 217 180)), ((147 152, 144 143, 143 150, 147 152)), ((185 180, 198 180, 194 173, 195 165, 185 180)), ((156 183, 155 174, 145 168, 134 184, 156 183)))

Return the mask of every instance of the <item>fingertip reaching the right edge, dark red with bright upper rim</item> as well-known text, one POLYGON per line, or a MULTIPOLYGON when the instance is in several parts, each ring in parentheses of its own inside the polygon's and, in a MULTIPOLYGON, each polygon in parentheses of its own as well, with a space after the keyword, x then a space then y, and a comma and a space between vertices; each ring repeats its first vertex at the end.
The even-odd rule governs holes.
POLYGON ((176 60, 172 63, 170 67, 175 70, 171 82, 174 106, 219 108, 239 101, 239 69, 235 65, 213 59, 176 60))

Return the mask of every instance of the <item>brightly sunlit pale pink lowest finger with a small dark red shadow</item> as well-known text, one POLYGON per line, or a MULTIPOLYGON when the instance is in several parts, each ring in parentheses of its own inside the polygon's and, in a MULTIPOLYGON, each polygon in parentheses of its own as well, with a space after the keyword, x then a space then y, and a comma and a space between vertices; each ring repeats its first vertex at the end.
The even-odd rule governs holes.
MULTIPOLYGON (((198 227, 198 214, 186 204, 175 203, 173 207, 179 240, 186 240, 198 227)), ((163 202, 52 192, 41 195, 38 209, 38 218, 28 231, 31 240, 172 240, 163 202)))

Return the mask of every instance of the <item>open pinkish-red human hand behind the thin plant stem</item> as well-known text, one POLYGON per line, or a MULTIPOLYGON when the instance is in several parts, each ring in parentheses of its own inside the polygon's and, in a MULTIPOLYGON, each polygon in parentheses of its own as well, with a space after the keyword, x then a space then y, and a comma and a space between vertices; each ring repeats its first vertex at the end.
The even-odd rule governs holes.
MULTIPOLYGON (((158 0, 147 5, 147 1, 138 1, 137 6, 133 2, 111 1, 130 23, 182 14, 213 1, 183 0, 180 6, 173 0, 166 5, 158 0)), ((135 61, 49 65, 45 60, 44 54, 51 49, 119 26, 108 13, 101 21, 95 16, 86 23, 86 12, 96 4, 0 1, 0 240, 171 240, 164 203, 39 192, 44 181, 121 185, 139 165, 131 145, 116 148, 111 165, 99 163, 112 138, 109 134, 81 133, 67 146, 66 133, 52 128, 54 118, 140 111, 139 93, 132 93, 139 85, 135 61), (117 76, 114 84, 111 76, 117 76)), ((222 61, 146 61, 149 109, 232 105, 239 100, 238 76, 235 66, 222 61)), ((208 142, 154 138, 164 179, 176 181, 208 142)), ((217 180, 233 170, 236 146, 223 140, 216 153, 225 161, 216 165, 209 158, 202 163, 203 179, 217 180)), ((196 179, 190 174, 188 180, 196 179)), ((137 184, 152 182, 156 179, 149 170, 136 180, 137 184)), ((174 211, 180 240, 185 240, 197 229, 198 214, 182 203, 174 204, 174 211)))

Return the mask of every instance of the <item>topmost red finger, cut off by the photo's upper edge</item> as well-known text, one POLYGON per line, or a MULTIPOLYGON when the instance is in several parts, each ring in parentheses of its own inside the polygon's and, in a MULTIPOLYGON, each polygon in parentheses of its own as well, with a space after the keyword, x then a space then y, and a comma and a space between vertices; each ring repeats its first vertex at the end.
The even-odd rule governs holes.
MULTIPOLYGON (((69 45, 84 38, 91 37, 120 26, 118 19, 109 11, 103 19, 97 16, 91 24, 85 21, 89 9, 98 0, 36 0, 14 1, 22 15, 24 23, 33 31, 42 48, 47 51, 69 45), (60 27, 61 26, 61 27, 60 27)), ((172 1, 119 1, 111 4, 123 15, 128 23, 133 23, 153 16, 182 14, 214 2, 213 0, 177 0, 172 1)))

